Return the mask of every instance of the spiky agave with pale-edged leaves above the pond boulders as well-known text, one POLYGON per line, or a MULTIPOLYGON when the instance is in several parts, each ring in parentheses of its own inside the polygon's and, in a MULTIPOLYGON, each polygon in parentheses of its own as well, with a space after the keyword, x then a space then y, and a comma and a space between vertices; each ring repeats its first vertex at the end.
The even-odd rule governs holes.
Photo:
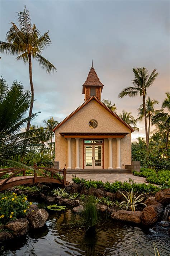
MULTIPOLYGON (((121 191, 120 191, 120 192, 121 192, 121 191)), ((126 191, 126 192, 127 192, 127 191, 126 191)), ((138 192, 137 192, 137 193, 138 193, 138 192)), ((122 206, 126 206, 126 208, 131 207, 132 211, 135 211, 135 207, 136 207, 137 205, 145 205, 145 206, 146 206, 145 203, 141 203, 141 202, 143 201, 143 199, 145 198, 145 197, 143 197, 143 195, 145 195, 146 193, 141 194, 141 195, 139 195, 139 196, 136 197, 136 194, 137 194, 137 193, 135 193, 135 194, 133 193, 133 188, 132 188, 131 192, 127 192, 127 196, 125 196, 125 195, 121 192, 121 194, 124 196, 124 198, 126 199, 126 201, 121 202, 120 206, 121 206, 121 207, 122 207, 122 206)))

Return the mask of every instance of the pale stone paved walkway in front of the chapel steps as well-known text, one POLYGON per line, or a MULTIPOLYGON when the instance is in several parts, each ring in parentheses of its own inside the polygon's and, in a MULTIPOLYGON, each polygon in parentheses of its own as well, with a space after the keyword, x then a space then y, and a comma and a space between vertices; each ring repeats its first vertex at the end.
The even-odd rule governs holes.
MULTIPOLYGON (((73 174, 75 175, 75 174, 73 174)), ((127 173, 93 173, 93 174, 76 174, 76 177, 88 179, 88 180, 102 180, 103 182, 109 181, 110 183, 118 180, 118 181, 128 181, 129 178, 133 179, 135 183, 146 183, 146 179, 144 177, 134 176, 133 174, 127 173)), ((72 181, 72 174, 66 174, 66 180, 72 181)))

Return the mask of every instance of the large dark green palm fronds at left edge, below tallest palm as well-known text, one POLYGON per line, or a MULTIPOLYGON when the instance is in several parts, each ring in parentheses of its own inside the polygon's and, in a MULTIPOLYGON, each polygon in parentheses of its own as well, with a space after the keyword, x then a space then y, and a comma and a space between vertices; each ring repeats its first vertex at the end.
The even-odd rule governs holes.
POLYGON ((31 102, 30 92, 23 91, 23 85, 14 81, 11 88, 0 78, 0 158, 11 158, 23 154, 35 146, 36 130, 23 131, 24 124, 37 113, 25 118, 31 102), (25 139, 26 138, 26 139, 25 139))

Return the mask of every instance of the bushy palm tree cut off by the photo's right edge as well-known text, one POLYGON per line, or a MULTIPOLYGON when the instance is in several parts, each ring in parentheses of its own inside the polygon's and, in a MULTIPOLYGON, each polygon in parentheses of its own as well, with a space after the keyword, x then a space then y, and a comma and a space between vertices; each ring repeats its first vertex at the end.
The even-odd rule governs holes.
POLYGON ((166 98, 162 102, 162 109, 152 116, 151 121, 160 131, 166 133, 165 152, 168 150, 168 141, 170 133, 170 93, 165 93, 166 98), (167 112, 164 112, 167 109, 167 112))

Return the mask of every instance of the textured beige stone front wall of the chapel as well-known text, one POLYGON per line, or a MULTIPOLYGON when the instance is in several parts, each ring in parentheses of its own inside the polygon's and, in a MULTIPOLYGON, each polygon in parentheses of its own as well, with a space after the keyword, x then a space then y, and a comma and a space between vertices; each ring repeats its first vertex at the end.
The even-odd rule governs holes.
MULTIPOLYGON (((125 165, 131 163, 131 130, 95 100, 91 100, 55 131, 56 161, 60 162, 62 169, 65 165, 67 167, 67 139, 60 135, 61 132, 128 132, 130 134, 121 139, 121 168, 125 168, 125 165), (98 126, 95 129, 89 127, 91 119, 98 121, 98 126), (122 166, 123 164, 124 166, 122 166)), ((114 169, 116 168, 116 150, 116 139, 112 139, 114 169)), ((82 169, 82 139, 79 140, 79 159, 80 169, 82 169)), ((71 167, 75 169, 75 139, 71 139, 71 167)), ((104 168, 108 168, 108 139, 104 139, 104 168)))

